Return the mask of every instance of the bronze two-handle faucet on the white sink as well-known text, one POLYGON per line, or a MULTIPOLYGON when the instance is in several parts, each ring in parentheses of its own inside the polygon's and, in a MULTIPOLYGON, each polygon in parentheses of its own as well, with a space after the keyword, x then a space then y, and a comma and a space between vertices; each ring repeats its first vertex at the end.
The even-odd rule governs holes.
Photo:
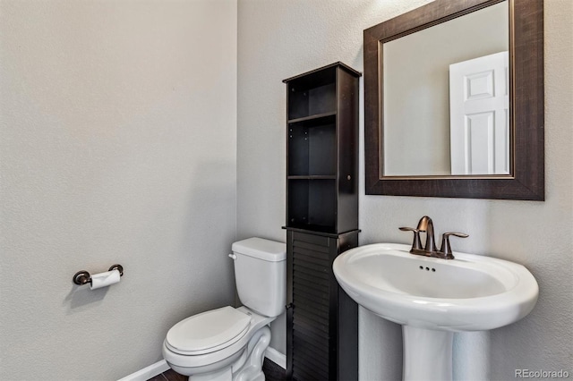
POLYGON ((433 235, 433 222, 432 218, 429 216, 423 216, 420 218, 416 228, 413 227, 400 227, 401 231, 404 232, 414 232, 414 241, 412 242, 412 249, 410 252, 412 254, 423 255, 425 257, 436 257, 444 259, 453 259, 454 255, 451 251, 451 246, 449 245, 449 237, 451 235, 460 238, 469 237, 466 233, 456 233, 448 232, 443 233, 441 236, 440 250, 436 248, 436 241, 433 235), (420 233, 426 233, 426 244, 422 248, 422 243, 420 241, 420 233))

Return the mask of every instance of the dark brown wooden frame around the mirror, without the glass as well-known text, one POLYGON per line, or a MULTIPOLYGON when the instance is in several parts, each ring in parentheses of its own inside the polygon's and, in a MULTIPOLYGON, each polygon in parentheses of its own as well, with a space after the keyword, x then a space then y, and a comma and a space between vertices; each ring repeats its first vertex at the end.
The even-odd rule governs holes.
POLYGON ((364 30, 364 167, 369 195, 543 200, 543 0, 509 1, 512 174, 405 179, 381 175, 384 42, 502 0, 436 0, 364 30))

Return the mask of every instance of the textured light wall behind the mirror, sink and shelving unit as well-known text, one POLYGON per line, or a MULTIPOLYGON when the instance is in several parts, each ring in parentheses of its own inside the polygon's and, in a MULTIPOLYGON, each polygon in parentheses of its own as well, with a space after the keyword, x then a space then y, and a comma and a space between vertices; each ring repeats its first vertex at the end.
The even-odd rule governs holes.
MULTIPOLYGON (((342 61, 363 70, 363 30, 428 0, 239 0, 237 234, 285 240, 285 87, 281 80, 342 61)), ((409 242, 398 226, 432 216, 438 233, 470 234, 460 251, 528 267, 534 311, 489 333, 458 334, 455 378, 515 379, 516 368, 571 368, 573 355, 573 66, 569 0, 545 1, 544 202, 364 196, 360 241, 409 242)), ((361 99, 363 102, 363 99, 361 99)), ((361 114, 363 140, 363 114, 361 114)), ((363 144, 361 145, 363 148, 363 144)), ((361 149, 361 174, 363 152, 361 149)), ((284 327, 275 326, 275 332, 284 327)), ((360 310, 360 379, 401 377, 400 327, 360 310)), ((284 351, 284 342, 273 343, 284 351)))

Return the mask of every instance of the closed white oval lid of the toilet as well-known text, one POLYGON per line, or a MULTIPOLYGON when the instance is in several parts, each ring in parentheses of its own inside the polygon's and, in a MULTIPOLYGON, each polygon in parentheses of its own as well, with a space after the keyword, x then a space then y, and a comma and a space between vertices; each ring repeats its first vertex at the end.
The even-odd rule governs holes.
MULTIPOLYGON (((230 306, 213 309, 175 324, 167 332, 167 343, 175 351, 205 351, 238 341, 247 331, 251 317, 230 306)), ((227 345, 225 345, 227 346, 227 345)))

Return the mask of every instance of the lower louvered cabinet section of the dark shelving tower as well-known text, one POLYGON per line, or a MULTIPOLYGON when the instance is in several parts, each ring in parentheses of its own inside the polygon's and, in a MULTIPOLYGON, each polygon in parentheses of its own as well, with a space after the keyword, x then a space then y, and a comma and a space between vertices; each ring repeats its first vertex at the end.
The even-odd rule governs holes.
POLYGON ((287 372, 294 380, 357 378, 358 307, 332 272, 338 253, 355 246, 357 232, 287 231, 287 372))

